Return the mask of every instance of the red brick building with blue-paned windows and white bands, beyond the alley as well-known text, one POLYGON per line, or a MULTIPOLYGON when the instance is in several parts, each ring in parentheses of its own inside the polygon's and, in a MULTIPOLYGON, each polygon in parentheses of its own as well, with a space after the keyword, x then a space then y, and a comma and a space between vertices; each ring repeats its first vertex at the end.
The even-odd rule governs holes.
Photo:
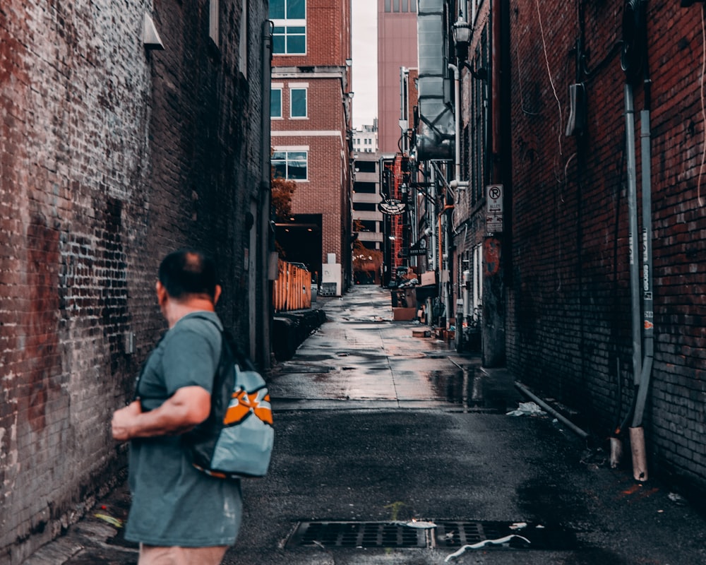
POLYGON ((350 0, 270 1, 270 20, 273 171, 297 182, 277 242, 340 294, 352 280, 350 0))

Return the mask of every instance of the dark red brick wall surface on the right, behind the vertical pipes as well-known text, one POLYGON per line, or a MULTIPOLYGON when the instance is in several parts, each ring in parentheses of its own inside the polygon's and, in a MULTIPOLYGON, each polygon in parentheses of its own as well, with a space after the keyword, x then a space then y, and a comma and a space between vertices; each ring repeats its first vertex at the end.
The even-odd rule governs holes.
MULTIPOLYGON (((644 424, 652 470, 703 488, 706 208, 699 188, 705 177, 699 174, 706 124, 700 8, 652 1, 647 14, 656 338, 644 424)), ((515 0, 510 6, 514 230, 508 364, 543 393, 580 408, 606 436, 634 395, 622 16, 617 0, 582 4, 579 11, 556 0, 515 0), (575 47, 582 30, 585 69, 577 78, 575 47), (582 138, 564 133, 568 85, 577 80, 587 89, 582 138)), ((638 191, 644 105, 645 90, 638 85, 638 191)), ((639 244, 636 252, 641 255, 639 244)))

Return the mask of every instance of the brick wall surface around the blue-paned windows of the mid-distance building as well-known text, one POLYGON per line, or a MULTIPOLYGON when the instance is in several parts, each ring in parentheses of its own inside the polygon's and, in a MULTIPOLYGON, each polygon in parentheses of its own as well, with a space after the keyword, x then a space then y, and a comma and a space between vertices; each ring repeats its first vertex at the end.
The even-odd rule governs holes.
MULTIPOLYGON (((350 85, 350 1, 306 3, 306 54, 275 55, 273 82, 282 84, 282 119, 273 119, 273 146, 309 147, 308 179, 297 182, 295 215, 321 215, 321 263, 335 254, 344 290, 352 280, 351 172, 347 131, 350 85), (289 87, 307 83, 306 119, 289 119, 289 87), (346 109, 346 107, 347 109, 346 109), (284 132, 295 132, 286 135, 284 132)), ((280 239, 287 237, 280 232, 280 239)), ((321 266, 311 266, 321 272, 321 266)))

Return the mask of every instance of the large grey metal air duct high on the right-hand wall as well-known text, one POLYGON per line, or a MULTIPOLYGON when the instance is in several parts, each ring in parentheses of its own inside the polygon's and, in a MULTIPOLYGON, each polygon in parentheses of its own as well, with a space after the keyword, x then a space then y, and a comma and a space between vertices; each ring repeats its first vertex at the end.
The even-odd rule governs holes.
POLYGON ((419 0, 419 132, 417 159, 451 159, 455 121, 446 105, 450 82, 444 57, 443 0, 419 0))

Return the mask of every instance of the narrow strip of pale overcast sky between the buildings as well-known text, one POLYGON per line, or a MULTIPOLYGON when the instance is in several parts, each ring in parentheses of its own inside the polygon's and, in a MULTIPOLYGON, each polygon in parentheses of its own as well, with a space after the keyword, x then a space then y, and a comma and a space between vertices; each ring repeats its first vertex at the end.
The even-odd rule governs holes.
POLYGON ((378 3, 352 0, 353 127, 372 125, 378 115, 378 3))

